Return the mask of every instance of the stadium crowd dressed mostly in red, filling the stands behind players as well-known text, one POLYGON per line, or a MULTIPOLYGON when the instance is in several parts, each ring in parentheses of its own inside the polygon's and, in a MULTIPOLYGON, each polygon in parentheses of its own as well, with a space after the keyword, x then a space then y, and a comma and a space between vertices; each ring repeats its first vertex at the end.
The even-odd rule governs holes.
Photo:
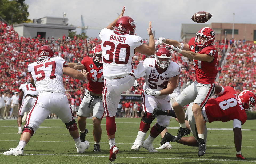
MULTIPOLYGON (((155 40, 156 41, 156 40, 155 40)), ((218 58, 223 56, 223 42, 215 43, 218 50, 218 58)), ((54 39, 47 38, 25 38, 19 37, 18 33, 14 31, 13 27, 4 22, 0 22, 0 92, 4 95, 6 93, 11 98, 15 92, 19 92, 19 86, 25 83, 27 74, 27 65, 37 60, 36 54, 42 45, 50 45, 54 51, 55 56, 61 56, 67 62, 80 62, 83 57, 92 57, 92 48, 100 44, 101 40, 96 38, 81 39, 66 37, 54 39)), ((148 40, 143 40, 143 44, 148 45, 148 40)), ((163 47, 162 45, 161 47, 163 47)), ((223 65, 217 63, 217 69, 220 72, 217 83, 222 86, 233 86, 237 93, 242 90, 252 90, 255 92, 256 87, 256 65, 252 64, 256 61, 256 45, 253 43, 246 43, 241 40, 230 40, 230 51, 227 52, 226 60, 223 65)), ((159 48, 159 45, 158 45, 159 48)), ((227 47, 226 47, 227 48, 227 47)), ((173 61, 181 66, 180 81, 181 85, 186 84, 187 81, 195 80, 195 69, 191 66, 192 61, 183 57, 177 52, 173 52, 173 61)), ((154 57, 154 56, 150 56, 154 57)), ((134 68, 147 58, 144 54, 135 53, 132 64, 134 68)), ((87 81, 73 79, 68 76, 63 76, 64 88, 66 94, 75 99, 81 99, 86 90, 87 81)), ((126 94, 141 94, 144 78, 137 79, 139 86, 134 89, 131 88, 126 91, 126 94)), ((5 95, 6 95, 5 94, 5 95)), ((2 99, 1 99, 2 101, 2 99)), ((5 102, 0 101, 0 109, 5 107, 5 102)), ((81 101, 81 100, 80 100, 81 101)), ((130 107, 129 116, 125 115, 122 110, 126 107, 124 102, 121 102, 122 108, 118 110, 119 117, 139 117, 141 116, 141 105, 139 103, 135 113, 133 107, 130 107)), ((134 104, 132 105, 134 106, 134 104)), ((10 104, 11 107, 11 104, 10 104)), ((143 112, 143 110, 142 110, 143 112)), ((3 117, 3 116, 1 116, 3 117)))

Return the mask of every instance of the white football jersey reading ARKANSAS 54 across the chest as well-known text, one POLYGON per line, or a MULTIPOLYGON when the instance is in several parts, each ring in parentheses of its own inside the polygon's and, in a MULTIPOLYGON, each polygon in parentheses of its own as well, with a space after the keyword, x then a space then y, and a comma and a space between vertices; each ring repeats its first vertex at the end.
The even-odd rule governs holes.
MULTIPOLYGON (((164 72, 161 72, 159 67, 156 67, 155 58, 147 58, 144 60, 143 64, 145 68, 145 83, 143 85, 143 90, 152 89, 155 91, 163 90, 167 87, 168 81, 171 77, 180 74, 180 66, 175 62, 170 62, 170 65, 164 72)), ((166 95, 155 96, 157 98, 166 97, 166 95)))

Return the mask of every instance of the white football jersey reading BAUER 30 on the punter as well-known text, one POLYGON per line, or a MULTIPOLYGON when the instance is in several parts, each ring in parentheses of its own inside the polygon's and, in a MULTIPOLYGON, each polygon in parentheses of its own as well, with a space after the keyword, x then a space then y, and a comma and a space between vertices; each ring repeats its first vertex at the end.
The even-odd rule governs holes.
POLYGON ((103 76, 110 80, 125 77, 133 69, 131 61, 134 49, 142 45, 142 39, 136 35, 118 35, 104 28, 99 33, 102 40, 103 76))

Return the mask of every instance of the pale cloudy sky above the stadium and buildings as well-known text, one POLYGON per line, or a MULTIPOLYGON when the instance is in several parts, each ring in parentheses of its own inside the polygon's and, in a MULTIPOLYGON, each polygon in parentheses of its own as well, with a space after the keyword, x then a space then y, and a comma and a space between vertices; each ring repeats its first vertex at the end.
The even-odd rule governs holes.
MULTIPOLYGON (((149 38, 147 28, 149 21, 152 21, 155 37, 179 41, 181 24, 195 23, 191 17, 198 11, 207 11, 212 14, 212 18, 205 24, 232 23, 233 13, 235 13, 235 23, 256 24, 256 1, 253 0, 26 0, 25 3, 29 5, 29 18, 32 20, 45 16, 63 17, 63 12, 66 12, 69 25, 80 26, 81 15, 83 15, 85 25, 94 27, 106 27, 117 18, 117 13, 120 13, 125 6, 124 15, 135 20, 136 33, 143 39, 149 38)), ((99 37, 100 30, 89 29, 86 32, 89 37, 99 37)), ((80 29, 77 29, 77 33, 80 33, 80 29)))

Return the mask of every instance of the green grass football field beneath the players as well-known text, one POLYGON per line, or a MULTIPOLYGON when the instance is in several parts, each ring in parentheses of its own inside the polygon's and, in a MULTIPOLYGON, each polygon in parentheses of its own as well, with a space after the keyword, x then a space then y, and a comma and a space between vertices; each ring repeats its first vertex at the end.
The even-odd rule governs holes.
MULTIPOLYGON (((90 147, 83 154, 77 154, 74 140, 60 119, 47 119, 36 131, 24 148, 24 156, 5 156, 3 152, 18 145, 21 134, 17 134, 17 120, 0 121, 0 163, 111 163, 109 161, 109 142, 106 134, 106 119, 102 120, 101 152, 93 152, 92 120, 87 119, 89 133, 86 140, 90 147)), ((231 130, 208 130, 206 154, 198 157, 198 147, 190 147, 178 143, 171 143, 171 150, 159 150, 150 153, 141 148, 132 151, 131 146, 139 130, 139 118, 117 118, 116 145, 120 151, 117 159, 112 163, 256 163, 256 120, 247 120, 242 131, 242 154, 249 161, 237 161, 235 157, 233 122, 207 123, 208 128, 231 128, 231 130)), ((152 125, 155 124, 155 120, 152 125)), ((171 119, 169 127, 178 127, 179 124, 171 119)), ((168 129, 176 134, 177 129, 168 129)), ((147 133, 147 136, 149 132, 147 133)), ((146 137, 147 137, 146 136, 146 137)), ((161 137, 157 137, 154 148, 159 147, 161 137)))

